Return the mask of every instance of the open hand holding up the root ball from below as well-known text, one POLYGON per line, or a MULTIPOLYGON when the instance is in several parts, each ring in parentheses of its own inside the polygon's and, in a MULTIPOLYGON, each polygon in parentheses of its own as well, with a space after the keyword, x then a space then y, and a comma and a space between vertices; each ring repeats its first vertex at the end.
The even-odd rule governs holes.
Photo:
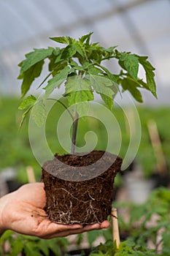
POLYGON ((109 227, 105 220, 86 225, 62 225, 47 218, 42 182, 26 184, 0 198, 0 234, 13 230, 28 236, 50 239, 109 227))

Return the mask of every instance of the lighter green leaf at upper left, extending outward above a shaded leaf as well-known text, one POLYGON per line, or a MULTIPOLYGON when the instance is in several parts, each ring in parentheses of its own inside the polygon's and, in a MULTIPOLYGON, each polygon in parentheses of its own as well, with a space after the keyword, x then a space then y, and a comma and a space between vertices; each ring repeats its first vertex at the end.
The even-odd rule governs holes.
POLYGON ((54 48, 47 49, 34 49, 33 52, 26 54, 26 59, 21 62, 20 76, 22 78, 23 72, 30 69, 39 61, 44 60, 47 56, 50 56, 53 53, 54 48))

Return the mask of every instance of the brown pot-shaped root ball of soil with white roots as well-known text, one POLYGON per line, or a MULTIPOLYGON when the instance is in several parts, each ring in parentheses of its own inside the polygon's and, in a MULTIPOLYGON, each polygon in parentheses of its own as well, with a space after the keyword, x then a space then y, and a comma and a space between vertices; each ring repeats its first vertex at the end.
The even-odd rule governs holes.
POLYGON ((81 225, 107 219, 112 210, 115 176, 121 164, 120 157, 104 151, 92 151, 84 156, 55 154, 54 159, 42 167, 45 211, 49 219, 81 225))

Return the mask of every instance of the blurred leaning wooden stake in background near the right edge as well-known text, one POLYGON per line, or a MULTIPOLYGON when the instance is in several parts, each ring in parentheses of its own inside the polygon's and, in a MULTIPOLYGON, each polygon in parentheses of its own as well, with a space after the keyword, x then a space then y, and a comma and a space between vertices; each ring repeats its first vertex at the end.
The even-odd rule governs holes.
POLYGON ((155 153, 155 157, 157 160, 158 173, 160 175, 167 174, 166 160, 163 154, 161 139, 158 133, 158 128, 154 120, 150 120, 147 123, 148 131, 150 134, 150 140, 152 143, 152 148, 155 153))

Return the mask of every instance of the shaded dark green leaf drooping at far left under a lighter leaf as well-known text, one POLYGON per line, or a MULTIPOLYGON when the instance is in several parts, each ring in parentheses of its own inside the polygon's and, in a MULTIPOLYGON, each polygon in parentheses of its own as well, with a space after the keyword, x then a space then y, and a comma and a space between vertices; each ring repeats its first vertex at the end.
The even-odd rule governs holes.
POLYGON ((23 72, 22 78, 19 78, 23 79, 23 83, 21 85, 21 97, 26 95, 27 91, 30 89, 31 83, 33 83, 35 78, 38 78, 41 74, 43 64, 44 61, 39 61, 34 66, 26 70, 26 72, 23 72))

